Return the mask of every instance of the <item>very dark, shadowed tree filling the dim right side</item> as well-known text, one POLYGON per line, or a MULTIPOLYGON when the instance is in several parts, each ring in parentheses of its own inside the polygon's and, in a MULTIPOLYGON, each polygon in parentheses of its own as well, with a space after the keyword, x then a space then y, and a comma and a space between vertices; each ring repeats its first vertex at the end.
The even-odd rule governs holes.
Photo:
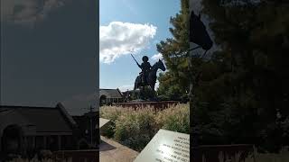
POLYGON ((194 130, 200 131, 203 144, 254 143, 278 150, 288 138, 284 133, 289 114, 288 4, 262 0, 202 4, 220 50, 200 66, 194 130))

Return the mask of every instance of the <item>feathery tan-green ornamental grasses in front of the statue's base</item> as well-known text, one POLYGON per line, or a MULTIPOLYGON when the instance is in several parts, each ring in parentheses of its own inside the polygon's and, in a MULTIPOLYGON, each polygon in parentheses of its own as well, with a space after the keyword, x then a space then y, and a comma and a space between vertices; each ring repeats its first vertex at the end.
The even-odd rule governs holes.
POLYGON ((151 107, 133 110, 105 106, 100 108, 100 117, 114 122, 104 133, 105 136, 108 134, 108 138, 137 151, 141 151, 160 129, 190 132, 188 104, 171 106, 160 112, 155 112, 151 107))

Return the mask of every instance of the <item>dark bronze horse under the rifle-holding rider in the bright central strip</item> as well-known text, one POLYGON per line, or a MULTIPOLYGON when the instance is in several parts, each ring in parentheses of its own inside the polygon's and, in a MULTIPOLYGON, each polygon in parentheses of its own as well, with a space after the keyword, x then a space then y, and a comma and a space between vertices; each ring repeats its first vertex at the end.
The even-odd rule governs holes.
MULTIPOLYGON (((143 87, 145 85, 149 85, 153 90, 154 90, 154 86, 156 83, 156 72, 158 69, 162 69, 163 71, 165 71, 165 67, 163 64, 163 61, 161 59, 159 59, 156 63, 154 63, 154 65, 151 67, 150 72, 148 73, 148 76, 146 78, 147 80, 147 84, 144 84, 142 82, 142 77, 141 76, 136 76, 135 78, 135 89, 143 87)), ((141 74, 140 74, 141 75, 141 74)))

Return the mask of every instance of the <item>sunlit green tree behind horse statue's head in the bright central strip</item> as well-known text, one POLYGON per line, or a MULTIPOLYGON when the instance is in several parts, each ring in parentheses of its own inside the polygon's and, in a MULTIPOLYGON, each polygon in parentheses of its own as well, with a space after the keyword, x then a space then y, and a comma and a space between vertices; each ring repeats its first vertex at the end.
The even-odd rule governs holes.
POLYGON ((190 48, 189 44, 189 1, 181 0, 181 11, 171 17, 172 28, 169 30, 173 38, 162 40, 156 45, 162 53, 167 72, 159 76, 158 94, 163 98, 180 100, 188 92, 189 75, 188 59, 184 53, 190 48))

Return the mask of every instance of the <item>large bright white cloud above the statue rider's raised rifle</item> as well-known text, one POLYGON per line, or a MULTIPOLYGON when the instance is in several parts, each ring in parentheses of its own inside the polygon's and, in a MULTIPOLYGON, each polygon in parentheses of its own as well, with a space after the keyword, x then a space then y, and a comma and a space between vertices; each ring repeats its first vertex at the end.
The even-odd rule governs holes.
POLYGON ((154 38, 152 24, 111 22, 99 28, 99 59, 111 63, 122 55, 138 52, 154 38))

